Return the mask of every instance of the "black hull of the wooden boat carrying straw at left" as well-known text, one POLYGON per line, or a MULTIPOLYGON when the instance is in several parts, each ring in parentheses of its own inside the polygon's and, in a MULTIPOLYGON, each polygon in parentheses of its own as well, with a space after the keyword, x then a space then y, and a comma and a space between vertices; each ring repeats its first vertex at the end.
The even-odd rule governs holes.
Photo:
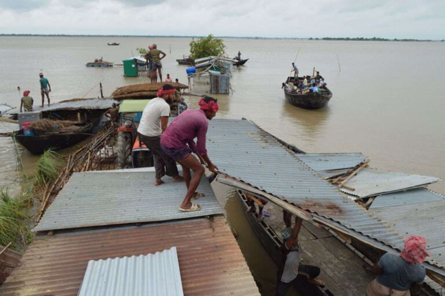
POLYGON ((15 138, 29 152, 34 154, 42 154, 49 148, 60 150, 73 146, 79 142, 82 142, 91 135, 92 133, 90 130, 82 130, 81 132, 28 136, 23 134, 23 130, 20 130, 16 132, 15 138))

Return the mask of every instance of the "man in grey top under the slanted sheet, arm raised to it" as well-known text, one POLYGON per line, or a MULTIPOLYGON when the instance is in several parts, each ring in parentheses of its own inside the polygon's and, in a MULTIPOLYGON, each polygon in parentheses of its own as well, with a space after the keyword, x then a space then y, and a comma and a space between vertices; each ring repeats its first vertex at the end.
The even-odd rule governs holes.
POLYGON ((312 265, 300 264, 301 247, 298 243, 298 234, 301 229, 303 219, 295 217, 295 226, 289 238, 285 238, 281 245, 281 260, 278 266, 278 278, 275 296, 285 296, 298 274, 306 276, 311 284, 324 286, 322 280, 316 279, 320 274, 320 268, 312 265))

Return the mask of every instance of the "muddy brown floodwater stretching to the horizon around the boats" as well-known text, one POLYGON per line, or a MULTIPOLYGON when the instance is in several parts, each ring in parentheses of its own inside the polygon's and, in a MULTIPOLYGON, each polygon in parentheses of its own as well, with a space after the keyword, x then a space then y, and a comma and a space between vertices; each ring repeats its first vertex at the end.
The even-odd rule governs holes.
MULTIPOLYGON (((99 82, 103 84, 105 96, 122 85, 149 82, 145 75, 123 77, 121 66, 86 68, 85 63, 103 57, 105 61, 121 64, 122 59, 136 55, 137 47, 148 47, 152 43, 157 43, 158 49, 167 54, 162 60, 163 78, 170 73, 173 79, 187 84, 187 66, 177 65, 175 60, 188 53, 190 40, 0 37, 0 102, 18 107, 21 92, 29 89, 38 103, 39 72, 49 79, 52 102, 97 97, 99 82), (121 45, 108 46, 107 42, 121 45)), ((445 178, 445 97, 442 91, 445 42, 235 38, 224 42, 229 56, 234 57, 241 51, 242 57, 249 61, 233 70, 233 93, 214 95, 220 104, 218 118, 250 119, 307 152, 362 152, 371 158, 371 166, 382 170, 445 178), (315 67, 325 78, 333 92, 326 108, 299 109, 284 100, 280 86, 289 75, 295 58, 300 75, 312 74, 315 67)), ((191 93, 203 94, 208 89, 205 80, 195 81, 191 93)), ((192 108, 197 102, 198 97, 188 97, 192 108)), ((0 122, 2 132, 12 129, 11 126, 0 122)), ((19 153, 25 170, 32 171, 36 157, 20 147, 19 153)), ((209 153, 211 158, 211 151, 209 153)), ((0 186, 12 186, 20 179, 15 159, 11 140, 0 138, 3 168, 0 186)), ((430 188, 445 194, 445 182, 430 188)), ((231 193, 223 191, 220 195, 231 197, 228 205, 235 203, 231 193)), ((226 208, 231 223, 238 223, 241 218, 230 217, 242 215, 231 215, 230 207, 226 208)), ((252 268, 258 278, 260 272, 256 271, 260 269, 252 268)), ((263 282, 268 283, 268 280, 263 282)))

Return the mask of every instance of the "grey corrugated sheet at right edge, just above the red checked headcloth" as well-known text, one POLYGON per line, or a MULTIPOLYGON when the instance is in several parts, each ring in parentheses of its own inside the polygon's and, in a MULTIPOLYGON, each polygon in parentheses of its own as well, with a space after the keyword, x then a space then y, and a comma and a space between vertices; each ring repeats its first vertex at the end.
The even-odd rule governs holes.
POLYGON ((445 267, 445 201, 371 208, 369 212, 385 220, 404 239, 411 235, 425 237, 433 260, 445 267))

